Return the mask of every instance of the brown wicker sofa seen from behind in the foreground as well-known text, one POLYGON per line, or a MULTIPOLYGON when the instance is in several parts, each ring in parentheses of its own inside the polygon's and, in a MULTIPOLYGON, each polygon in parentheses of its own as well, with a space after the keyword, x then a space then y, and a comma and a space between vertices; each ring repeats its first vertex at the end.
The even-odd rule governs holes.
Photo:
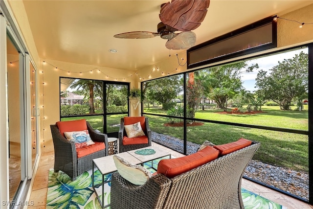
POLYGON ((244 209, 241 181, 259 146, 252 142, 171 179, 154 175, 143 186, 115 172, 111 209, 244 209))

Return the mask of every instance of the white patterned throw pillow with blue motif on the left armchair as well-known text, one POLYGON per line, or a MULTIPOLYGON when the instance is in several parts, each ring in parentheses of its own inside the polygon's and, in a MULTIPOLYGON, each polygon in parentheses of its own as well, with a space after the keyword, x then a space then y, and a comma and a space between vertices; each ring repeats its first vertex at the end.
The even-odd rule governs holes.
POLYGON ((94 144, 90 139, 88 130, 64 132, 64 135, 67 140, 75 142, 76 149, 94 144))

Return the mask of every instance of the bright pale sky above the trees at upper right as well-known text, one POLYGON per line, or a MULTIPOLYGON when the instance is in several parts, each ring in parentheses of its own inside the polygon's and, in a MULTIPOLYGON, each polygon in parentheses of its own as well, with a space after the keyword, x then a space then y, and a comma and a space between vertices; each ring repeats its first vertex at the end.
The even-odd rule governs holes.
POLYGON ((284 59, 291 59, 294 57, 295 54, 299 54, 301 51, 308 53, 308 48, 298 49, 294 51, 289 51, 285 53, 275 54, 275 55, 247 61, 248 66, 251 66, 257 63, 259 65, 259 69, 253 70, 252 72, 249 72, 249 73, 244 73, 242 75, 241 79, 243 81, 243 87, 250 92, 255 91, 256 90, 254 88, 255 78, 259 70, 262 69, 262 70, 268 71, 269 73, 270 69, 278 65, 278 61, 283 61, 284 59))

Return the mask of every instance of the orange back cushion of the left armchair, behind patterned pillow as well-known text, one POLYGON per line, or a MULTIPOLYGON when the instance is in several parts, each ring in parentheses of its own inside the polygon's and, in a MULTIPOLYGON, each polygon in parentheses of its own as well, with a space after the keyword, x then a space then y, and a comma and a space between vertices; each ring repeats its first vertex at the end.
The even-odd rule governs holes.
POLYGON ((85 131, 88 129, 86 119, 59 121, 55 124, 59 128, 59 131, 63 137, 65 137, 64 132, 85 131))

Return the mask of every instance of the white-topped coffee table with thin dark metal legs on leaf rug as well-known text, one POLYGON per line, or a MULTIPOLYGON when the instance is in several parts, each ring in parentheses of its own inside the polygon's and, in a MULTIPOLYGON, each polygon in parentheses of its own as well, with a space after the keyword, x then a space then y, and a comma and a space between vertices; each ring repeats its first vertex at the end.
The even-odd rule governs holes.
MULTIPOLYGON (((141 151, 141 152, 144 152, 141 151)), ((137 152, 138 153, 138 152, 137 152)), ((140 153, 140 152, 139 152, 140 153)), ((160 149, 158 147, 155 146, 149 146, 149 147, 145 147, 145 148, 141 148, 141 149, 136 149, 136 150, 132 150, 132 151, 128 151, 128 152, 123 152, 123 153, 119 153, 119 154, 115 154, 116 156, 119 156, 125 160, 127 160, 130 163, 133 164, 141 164, 143 165, 143 163, 146 162, 150 162, 152 161, 152 168, 156 170, 156 168, 153 167, 153 161, 162 157, 166 157, 169 156, 169 158, 171 158, 171 153, 166 152, 163 149, 160 149), (151 151, 154 150, 155 153, 154 154, 150 154, 150 155, 140 155, 140 154, 136 154, 135 152, 139 151, 139 150, 147 150, 151 151)), ((116 172, 116 166, 115 163, 113 161, 113 156, 115 155, 109 155, 106 157, 102 157, 102 158, 97 158, 97 159, 93 159, 93 163, 92 163, 92 188, 94 193, 97 196, 97 199, 102 207, 102 209, 107 208, 110 206, 110 204, 108 205, 104 205, 104 185, 109 183, 111 180, 104 180, 105 175, 107 174, 111 174, 113 172, 116 172), (94 185, 94 168, 97 167, 97 169, 100 171, 101 175, 102 175, 102 182, 100 184, 94 185), (102 200, 100 199, 100 195, 98 194, 97 190, 96 190, 96 186, 102 186, 102 200)))

